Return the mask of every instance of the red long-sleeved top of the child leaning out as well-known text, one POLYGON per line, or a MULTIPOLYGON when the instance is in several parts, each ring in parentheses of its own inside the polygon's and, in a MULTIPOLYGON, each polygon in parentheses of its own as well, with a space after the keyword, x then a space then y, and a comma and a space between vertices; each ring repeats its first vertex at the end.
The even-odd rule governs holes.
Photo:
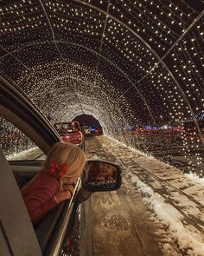
POLYGON ((24 198, 30 220, 36 222, 40 220, 45 213, 56 206, 54 194, 56 194, 58 184, 43 184, 36 187, 32 194, 24 198))

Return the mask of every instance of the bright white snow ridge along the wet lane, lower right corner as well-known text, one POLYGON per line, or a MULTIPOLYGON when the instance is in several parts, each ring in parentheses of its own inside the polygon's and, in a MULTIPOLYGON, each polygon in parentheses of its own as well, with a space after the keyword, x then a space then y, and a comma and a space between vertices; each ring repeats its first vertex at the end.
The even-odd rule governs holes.
POLYGON ((131 182, 137 184, 137 187, 145 196, 143 198, 145 203, 153 208, 159 219, 163 220, 163 223, 168 226, 170 233, 174 236, 181 250, 187 253, 187 255, 203 256, 204 243, 201 241, 201 235, 189 230, 189 226, 184 226, 185 221, 182 214, 175 207, 165 203, 161 195, 154 193, 150 187, 145 185, 136 176, 131 177, 131 182))

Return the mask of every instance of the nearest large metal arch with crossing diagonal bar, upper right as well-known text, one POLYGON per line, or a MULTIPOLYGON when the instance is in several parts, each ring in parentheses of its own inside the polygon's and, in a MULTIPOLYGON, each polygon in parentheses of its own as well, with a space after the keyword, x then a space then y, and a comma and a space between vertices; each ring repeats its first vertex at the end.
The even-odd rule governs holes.
MULTIPOLYGON (((86 3, 86 2, 83 2, 83 1, 81 1, 81 0, 73 0, 73 1, 76 2, 76 3, 81 3, 81 4, 84 4, 84 5, 86 5, 86 6, 89 6, 90 8, 92 8, 92 9, 94 9, 94 10, 98 10, 100 13, 103 13, 104 15, 106 15, 105 10, 101 10, 99 7, 96 7, 96 6, 92 5, 91 3, 86 3)), ((204 146, 204 139, 203 139, 203 137, 202 137, 201 129, 200 129, 199 125, 198 125, 198 121, 196 120, 196 117, 195 117, 195 115, 194 115, 193 108, 191 107, 190 102, 188 102, 188 98, 187 98, 187 96, 185 95, 185 93, 184 93, 182 87, 180 86, 179 82, 175 79, 175 76, 174 76, 174 75, 171 73, 171 71, 169 70, 168 65, 167 65, 165 62, 163 62, 163 59, 169 54, 169 52, 170 52, 172 49, 174 49, 175 45, 182 39, 183 36, 185 36, 185 35, 188 33, 188 30, 190 30, 190 29, 194 26, 194 24, 197 23, 197 21, 201 18, 201 16, 203 16, 203 14, 204 14, 204 10, 201 12, 201 14, 200 14, 199 16, 197 16, 197 18, 194 19, 194 22, 191 23, 191 25, 188 27, 188 29, 184 31, 184 33, 182 34, 182 36, 180 36, 180 37, 175 41, 175 43, 172 45, 171 48, 169 48, 169 50, 166 52, 166 54, 165 54, 163 57, 158 56, 158 54, 156 53, 156 51, 150 47, 149 43, 147 43, 145 40, 143 40, 143 38, 142 38, 141 36, 139 36, 134 30, 131 30, 131 28, 130 28, 129 26, 127 26, 126 24, 124 24, 123 22, 121 22, 120 20, 118 20, 118 18, 116 18, 115 16, 112 16, 112 15, 110 15, 110 14, 109 14, 109 16, 112 18, 112 20, 114 20, 114 21, 116 21, 117 23, 121 24, 122 26, 124 26, 124 28, 125 28, 126 30, 129 30, 134 36, 136 36, 144 45, 146 45, 146 47, 147 47, 148 49, 150 49, 150 51, 151 51, 151 52, 154 54, 154 56, 156 56, 156 58, 158 59, 158 62, 156 63, 156 65, 155 65, 153 68, 151 68, 151 69, 149 70, 149 72, 148 72, 146 75, 144 75, 143 78, 141 78, 138 82, 141 82, 147 75, 149 75, 150 72, 151 72, 152 70, 154 70, 154 69, 156 68, 156 66, 158 66, 159 63, 163 63, 164 68, 167 70, 167 72, 169 73, 169 75, 171 75, 171 77, 172 77, 172 79, 174 80, 174 82, 175 82, 177 88, 178 88, 179 91, 181 92, 181 94, 182 94, 182 96, 183 96, 183 99, 184 99, 185 102, 187 103, 188 108, 189 108, 191 114, 192 114, 193 117, 194 117, 195 126, 196 126, 196 128, 198 129, 198 132, 199 132, 199 135, 200 135, 200 138, 201 138, 201 143, 202 143, 202 145, 204 146)), ((137 83, 138 83, 138 82, 137 82, 137 83)), ((134 87, 135 87, 135 85, 134 85, 134 87)))

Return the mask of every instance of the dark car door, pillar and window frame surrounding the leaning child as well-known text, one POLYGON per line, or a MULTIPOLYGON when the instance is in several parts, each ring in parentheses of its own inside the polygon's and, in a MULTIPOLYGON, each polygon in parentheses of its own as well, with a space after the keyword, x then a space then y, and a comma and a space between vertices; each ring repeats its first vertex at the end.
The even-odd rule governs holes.
MULTIPOLYGON (((61 141, 22 92, 2 80, 0 95, 0 115, 34 141, 44 154, 54 142, 61 141)), ((75 200, 60 203, 33 226, 20 188, 41 169, 41 161, 7 161, 2 148, 0 153, 0 255, 54 255, 60 250, 75 200)), ((79 187, 80 181, 74 194, 79 187)))

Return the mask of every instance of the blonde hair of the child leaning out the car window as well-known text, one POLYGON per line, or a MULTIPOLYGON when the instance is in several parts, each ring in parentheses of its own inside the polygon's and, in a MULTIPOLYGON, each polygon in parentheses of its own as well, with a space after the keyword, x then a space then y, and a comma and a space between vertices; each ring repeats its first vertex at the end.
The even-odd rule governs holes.
POLYGON ((79 147, 71 143, 57 142, 49 151, 43 164, 44 172, 46 172, 52 161, 57 165, 67 165, 67 173, 65 175, 72 177, 73 174, 82 173, 86 163, 86 155, 79 147))

